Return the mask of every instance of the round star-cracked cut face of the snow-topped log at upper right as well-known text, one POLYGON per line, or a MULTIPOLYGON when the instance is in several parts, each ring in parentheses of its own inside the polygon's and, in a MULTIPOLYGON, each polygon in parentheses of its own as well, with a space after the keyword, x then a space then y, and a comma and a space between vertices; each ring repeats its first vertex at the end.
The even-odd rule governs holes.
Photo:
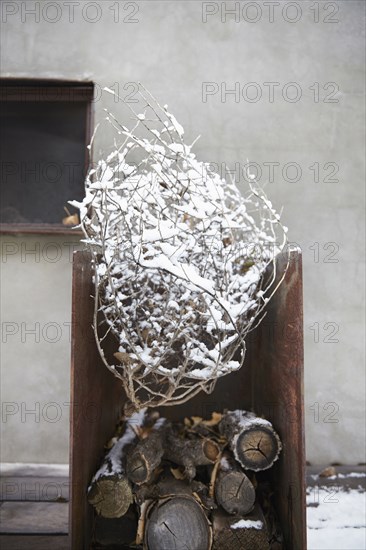
POLYGON ((277 460, 281 441, 271 426, 253 426, 238 435, 235 458, 244 468, 266 470, 277 460))

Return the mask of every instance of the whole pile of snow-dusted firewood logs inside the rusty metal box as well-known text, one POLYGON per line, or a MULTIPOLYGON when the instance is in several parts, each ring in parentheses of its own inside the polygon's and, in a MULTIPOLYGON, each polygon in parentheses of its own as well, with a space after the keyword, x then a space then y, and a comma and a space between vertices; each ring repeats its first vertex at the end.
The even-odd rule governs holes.
POLYGON ((88 489, 98 547, 265 550, 256 472, 281 451, 271 423, 247 411, 172 423, 144 410, 109 444, 88 489))

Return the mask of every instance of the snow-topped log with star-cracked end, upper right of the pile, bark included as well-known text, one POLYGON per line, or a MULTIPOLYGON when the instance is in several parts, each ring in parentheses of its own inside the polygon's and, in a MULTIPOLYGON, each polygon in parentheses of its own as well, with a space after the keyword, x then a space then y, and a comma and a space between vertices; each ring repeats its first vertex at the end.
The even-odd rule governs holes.
POLYGON ((226 412, 219 429, 243 468, 255 472, 266 470, 279 457, 282 445, 272 424, 251 412, 226 412))

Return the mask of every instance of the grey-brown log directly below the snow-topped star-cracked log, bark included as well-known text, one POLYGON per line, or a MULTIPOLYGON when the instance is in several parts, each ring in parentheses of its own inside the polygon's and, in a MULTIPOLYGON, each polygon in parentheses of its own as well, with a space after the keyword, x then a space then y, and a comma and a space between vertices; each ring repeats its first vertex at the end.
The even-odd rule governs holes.
POLYGON ((235 460, 225 453, 215 482, 217 504, 229 514, 245 515, 255 502, 255 489, 235 460))

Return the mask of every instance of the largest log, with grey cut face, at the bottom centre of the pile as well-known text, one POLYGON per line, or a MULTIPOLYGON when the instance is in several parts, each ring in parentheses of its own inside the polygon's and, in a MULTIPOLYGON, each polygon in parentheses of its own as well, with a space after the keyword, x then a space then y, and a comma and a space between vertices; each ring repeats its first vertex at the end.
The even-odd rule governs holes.
POLYGON ((145 550, 209 550, 212 530, 201 505, 189 495, 155 501, 147 512, 145 550))

